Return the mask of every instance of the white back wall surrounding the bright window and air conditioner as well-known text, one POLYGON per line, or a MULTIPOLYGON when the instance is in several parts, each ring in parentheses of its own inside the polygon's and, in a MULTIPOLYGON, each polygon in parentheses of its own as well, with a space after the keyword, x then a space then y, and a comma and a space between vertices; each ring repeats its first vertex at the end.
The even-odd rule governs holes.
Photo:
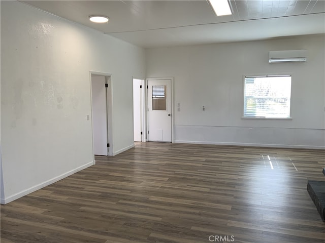
POLYGON ((157 48, 146 70, 175 78, 175 142, 324 148, 324 53, 323 35, 157 48), (298 49, 306 63, 268 63, 269 51, 298 49), (291 74, 293 119, 242 119, 245 74, 291 74))

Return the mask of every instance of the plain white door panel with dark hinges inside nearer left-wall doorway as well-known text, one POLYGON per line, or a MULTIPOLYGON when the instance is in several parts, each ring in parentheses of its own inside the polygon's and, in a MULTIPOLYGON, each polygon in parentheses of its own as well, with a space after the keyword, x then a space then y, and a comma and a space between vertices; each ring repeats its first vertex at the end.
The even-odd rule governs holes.
POLYGON ((94 154, 107 156, 107 99, 105 84, 105 76, 91 76, 94 154))

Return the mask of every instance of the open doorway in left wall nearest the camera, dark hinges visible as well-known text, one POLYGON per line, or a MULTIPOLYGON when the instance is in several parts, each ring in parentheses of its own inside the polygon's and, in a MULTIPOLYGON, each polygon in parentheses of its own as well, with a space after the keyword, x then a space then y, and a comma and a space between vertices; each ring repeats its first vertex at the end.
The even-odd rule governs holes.
POLYGON ((93 155, 113 155, 111 74, 90 72, 93 155))

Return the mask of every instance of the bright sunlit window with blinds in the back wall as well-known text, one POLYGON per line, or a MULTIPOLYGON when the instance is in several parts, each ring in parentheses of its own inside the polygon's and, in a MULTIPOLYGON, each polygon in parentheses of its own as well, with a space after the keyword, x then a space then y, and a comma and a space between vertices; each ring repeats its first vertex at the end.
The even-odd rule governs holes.
POLYGON ((244 117, 289 118, 291 75, 245 76, 244 117))

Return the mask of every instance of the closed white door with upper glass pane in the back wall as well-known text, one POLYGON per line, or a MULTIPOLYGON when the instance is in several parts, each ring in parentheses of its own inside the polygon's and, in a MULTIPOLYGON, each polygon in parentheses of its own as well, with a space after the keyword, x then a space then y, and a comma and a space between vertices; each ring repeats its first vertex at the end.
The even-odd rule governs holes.
POLYGON ((172 142, 172 80, 148 79, 148 140, 172 142))

